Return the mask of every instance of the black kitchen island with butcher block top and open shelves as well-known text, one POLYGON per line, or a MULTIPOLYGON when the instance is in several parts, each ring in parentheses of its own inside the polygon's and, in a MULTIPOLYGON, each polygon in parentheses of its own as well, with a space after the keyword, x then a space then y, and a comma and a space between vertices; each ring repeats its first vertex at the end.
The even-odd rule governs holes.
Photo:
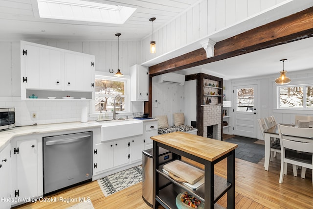
MULTIPOLYGON (((205 209, 222 208, 216 202, 227 193, 227 209, 235 208, 235 149, 238 147, 237 144, 183 132, 158 135, 151 137, 151 139, 153 140, 153 156, 159 156, 159 147, 173 153, 173 161, 169 162, 172 164, 168 164, 164 169, 163 165, 159 165, 158 158, 153 158, 153 197, 155 197, 153 209, 157 209, 159 204, 165 209, 181 208, 181 206, 177 206, 176 202, 179 199, 179 194, 184 192, 198 198, 202 202, 199 208, 205 209), (186 167, 185 171, 183 167, 175 167, 177 163, 173 162, 182 161, 182 157, 204 165, 204 184, 200 184, 200 186, 197 183, 190 185, 188 182, 184 183, 177 180, 184 180, 184 178, 194 180, 192 178, 193 168, 190 168, 190 165, 186 167), (227 158, 227 179, 214 174, 214 164, 225 158, 227 158), (173 174, 170 175, 171 173, 165 168, 175 171, 177 178, 173 178, 173 174), (185 176, 184 172, 186 173, 185 176), (159 187, 159 178, 166 178, 170 183, 159 187)), ((183 165, 179 163, 179 166, 183 165)), ((194 168, 195 170, 198 169, 194 168)))

